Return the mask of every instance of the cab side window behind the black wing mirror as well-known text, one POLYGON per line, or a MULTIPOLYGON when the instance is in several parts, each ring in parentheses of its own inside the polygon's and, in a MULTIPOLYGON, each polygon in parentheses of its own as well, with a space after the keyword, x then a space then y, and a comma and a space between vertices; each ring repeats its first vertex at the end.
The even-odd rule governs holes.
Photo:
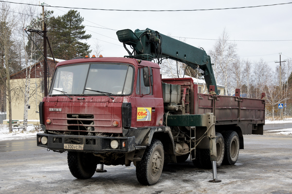
POLYGON ((153 95, 153 77, 152 76, 153 76, 153 74, 152 74, 151 67, 138 68, 137 82, 136 82, 136 94, 143 95, 143 96, 153 95), (149 81, 147 83, 148 79, 150 80, 150 83, 149 83, 149 81))

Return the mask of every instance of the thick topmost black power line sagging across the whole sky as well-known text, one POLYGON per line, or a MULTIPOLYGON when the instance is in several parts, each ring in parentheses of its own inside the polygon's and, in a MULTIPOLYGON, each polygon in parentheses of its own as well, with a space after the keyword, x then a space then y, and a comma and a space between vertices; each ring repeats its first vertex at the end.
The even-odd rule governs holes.
MULTIPOLYGON (((7 3, 15 3, 10 1, 0 1, 0 2, 7 2, 7 3)), ((292 3, 292 2, 290 2, 292 3)), ((17 3, 17 4, 25 4, 25 5, 33 5, 33 6, 39 6, 35 4, 30 3, 17 3)), ((192 9, 192 10, 121 10, 121 9, 95 9, 95 8, 76 8, 76 7, 62 7, 62 6, 49 6, 44 5, 46 7, 55 7, 55 8, 69 8, 69 9, 86 9, 86 10, 105 10, 105 11, 207 11, 207 10, 225 10, 225 9, 241 9, 241 8, 255 8, 255 7, 264 7, 264 6, 274 6, 274 5, 284 5, 289 3, 278 3, 278 4, 272 4, 272 5, 261 5, 261 6, 248 6, 248 7, 235 7, 235 8, 215 8, 215 9, 192 9)))

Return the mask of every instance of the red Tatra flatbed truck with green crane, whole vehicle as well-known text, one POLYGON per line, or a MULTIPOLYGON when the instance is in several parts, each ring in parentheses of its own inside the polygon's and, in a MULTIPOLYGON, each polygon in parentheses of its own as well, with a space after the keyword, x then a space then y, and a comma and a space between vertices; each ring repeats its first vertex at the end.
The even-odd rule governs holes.
MULTIPOLYGON (((217 95, 204 50, 150 29, 117 35, 129 56, 58 63, 39 105, 44 133, 37 134, 37 145, 67 151, 74 177, 92 177, 97 164, 102 170, 133 163, 138 181, 152 185, 164 164, 188 158, 216 173, 221 164, 236 163, 243 135, 263 134, 265 100, 243 98, 239 89, 235 96, 217 95), (199 94, 191 78, 161 79, 163 57, 199 70, 210 93, 199 94)), ((213 181, 219 181, 216 174, 213 181)))

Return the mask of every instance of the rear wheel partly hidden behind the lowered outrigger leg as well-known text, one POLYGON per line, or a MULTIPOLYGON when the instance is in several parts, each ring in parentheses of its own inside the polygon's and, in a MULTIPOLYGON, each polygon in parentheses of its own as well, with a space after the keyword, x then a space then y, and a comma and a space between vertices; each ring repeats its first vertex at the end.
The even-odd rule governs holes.
MULTIPOLYGON (((217 160, 216 167, 219 168, 223 163, 225 145, 224 138, 221 133, 216 132, 216 149, 217 149, 217 160)), ((212 169, 212 162, 210 161, 210 150, 209 149, 197 149, 196 152, 196 163, 200 163, 200 167, 205 169, 212 169)), ((195 160, 193 160, 194 163, 195 160)), ((195 164, 195 163, 194 163, 195 164)))

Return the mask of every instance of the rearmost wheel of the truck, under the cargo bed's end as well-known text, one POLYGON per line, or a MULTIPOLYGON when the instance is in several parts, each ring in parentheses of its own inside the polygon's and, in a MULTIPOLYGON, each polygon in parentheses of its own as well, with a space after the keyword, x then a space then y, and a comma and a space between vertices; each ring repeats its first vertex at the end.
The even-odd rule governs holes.
POLYGON ((239 155, 239 138, 235 131, 225 131, 223 134, 225 153, 223 164, 233 165, 236 163, 239 155))

